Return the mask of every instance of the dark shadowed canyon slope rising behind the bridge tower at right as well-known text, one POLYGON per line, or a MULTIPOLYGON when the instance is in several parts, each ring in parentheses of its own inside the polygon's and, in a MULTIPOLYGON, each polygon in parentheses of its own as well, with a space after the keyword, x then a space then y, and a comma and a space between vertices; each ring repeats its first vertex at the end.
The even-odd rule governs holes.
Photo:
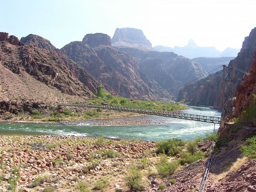
MULTIPOLYGON (((237 67, 244 71, 249 71, 256 52, 256 28, 252 29, 250 35, 244 39, 241 51, 237 57, 230 61, 228 66, 237 67)), ((244 73, 234 70, 234 93, 241 83, 244 73)), ((185 99, 191 105, 208 105, 221 108, 222 104, 222 81, 221 72, 208 76, 194 84, 188 84, 180 91, 178 99, 185 99), (199 103, 197 101, 200 101, 199 103)))

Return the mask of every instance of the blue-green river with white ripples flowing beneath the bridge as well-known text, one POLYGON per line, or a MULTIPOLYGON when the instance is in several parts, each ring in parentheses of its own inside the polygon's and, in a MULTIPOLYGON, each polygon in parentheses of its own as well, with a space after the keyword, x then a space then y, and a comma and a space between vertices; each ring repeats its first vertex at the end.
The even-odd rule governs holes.
MULTIPOLYGON (((205 116, 221 116, 221 111, 212 108, 188 106, 184 113, 205 116)), ((166 140, 177 137, 183 140, 192 140, 213 131, 214 124, 197 122, 185 119, 175 119, 163 116, 135 116, 131 118, 148 119, 153 122, 163 122, 152 125, 54 125, 36 123, 0 123, 0 135, 77 135, 88 137, 110 137, 124 139, 142 139, 150 141, 166 140)), ((129 119, 129 118, 128 118, 129 119)), ((217 129, 219 125, 215 125, 217 129)))

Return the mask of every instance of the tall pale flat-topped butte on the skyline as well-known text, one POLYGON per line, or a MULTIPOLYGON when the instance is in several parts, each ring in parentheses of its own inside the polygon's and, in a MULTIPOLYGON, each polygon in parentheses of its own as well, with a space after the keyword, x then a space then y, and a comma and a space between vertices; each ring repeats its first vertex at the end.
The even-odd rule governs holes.
POLYGON ((143 31, 134 28, 116 28, 112 38, 112 45, 119 48, 131 47, 141 50, 153 50, 143 31))

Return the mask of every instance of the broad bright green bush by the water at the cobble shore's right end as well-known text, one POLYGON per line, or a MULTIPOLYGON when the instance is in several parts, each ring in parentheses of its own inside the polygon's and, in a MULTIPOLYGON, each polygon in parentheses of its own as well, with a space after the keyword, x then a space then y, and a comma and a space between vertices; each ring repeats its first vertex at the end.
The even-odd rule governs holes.
POLYGON ((160 141, 157 143, 157 154, 167 154, 175 156, 181 151, 181 147, 184 146, 184 142, 180 139, 173 138, 166 141, 160 141))

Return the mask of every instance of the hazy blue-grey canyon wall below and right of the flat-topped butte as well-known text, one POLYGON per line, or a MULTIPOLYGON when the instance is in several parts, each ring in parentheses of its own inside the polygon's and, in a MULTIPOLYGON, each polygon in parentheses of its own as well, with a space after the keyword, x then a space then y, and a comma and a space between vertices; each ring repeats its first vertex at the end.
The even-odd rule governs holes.
POLYGON ((176 87, 206 73, 201 64, 178 56, 174 52, 142 51, 134 48, 120 48, 120 50, 137 58, 140 71, 172 94, 177 91, 176 87))

